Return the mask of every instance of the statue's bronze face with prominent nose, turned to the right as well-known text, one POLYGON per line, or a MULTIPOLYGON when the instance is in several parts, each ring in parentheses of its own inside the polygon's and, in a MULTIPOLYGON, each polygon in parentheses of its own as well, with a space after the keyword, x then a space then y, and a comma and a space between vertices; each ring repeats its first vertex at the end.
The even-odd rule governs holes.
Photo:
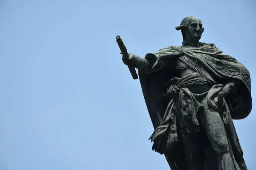
POLYGON ((204 31, 202 26, 201 20, 196 17, 191 18, 186 26, 186 37, 192 42, 198 42, 204 31))

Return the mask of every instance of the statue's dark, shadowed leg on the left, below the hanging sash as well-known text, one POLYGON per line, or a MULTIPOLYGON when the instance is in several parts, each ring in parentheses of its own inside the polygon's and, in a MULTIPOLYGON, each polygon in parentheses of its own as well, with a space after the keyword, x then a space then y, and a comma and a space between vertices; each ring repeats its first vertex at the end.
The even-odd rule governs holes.
POLYGON ((181 128, 180 113, 176 114, 178 141, 183 151, 187 170, 203 170, 200 159, 199 133, 188 133, 181 128))

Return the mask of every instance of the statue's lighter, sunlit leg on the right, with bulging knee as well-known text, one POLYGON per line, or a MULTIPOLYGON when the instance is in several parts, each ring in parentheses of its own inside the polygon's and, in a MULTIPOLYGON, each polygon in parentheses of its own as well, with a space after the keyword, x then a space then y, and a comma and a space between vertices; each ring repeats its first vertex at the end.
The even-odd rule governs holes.
POLYGON ((217 167, 219 170, 235 170, 221 116, 217 111, 208 108, 207 101, 204 101, 203 105, 205 111, 199 113, 198 117, 217 156, 217 167))

